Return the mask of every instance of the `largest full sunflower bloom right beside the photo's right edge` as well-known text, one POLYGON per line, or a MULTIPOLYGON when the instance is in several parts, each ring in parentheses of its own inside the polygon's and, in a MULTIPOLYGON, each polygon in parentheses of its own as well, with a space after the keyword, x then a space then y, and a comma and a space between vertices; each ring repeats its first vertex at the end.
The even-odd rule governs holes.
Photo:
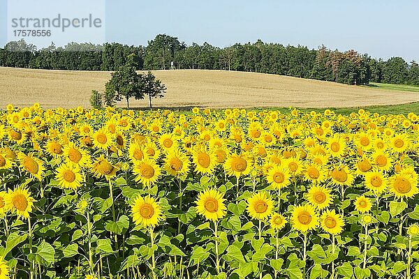
POLYGON ((395 197, 413 197, 419 193, 418 190, 418 180, 409 173, 401 171, 399 174, 395 174, 390 177, 388 183, 390 193, 395 195, 395 197))

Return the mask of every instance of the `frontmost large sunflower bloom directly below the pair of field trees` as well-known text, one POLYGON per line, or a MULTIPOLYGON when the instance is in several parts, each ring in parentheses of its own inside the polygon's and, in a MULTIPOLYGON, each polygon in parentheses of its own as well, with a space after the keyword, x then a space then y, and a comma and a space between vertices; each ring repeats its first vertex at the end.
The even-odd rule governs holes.
POLYGON ((154 197, 138 196, 131 204, 131 216, 135 225, 144 227, 156 227, 163 220, 163 212, 159 202, 154 197))

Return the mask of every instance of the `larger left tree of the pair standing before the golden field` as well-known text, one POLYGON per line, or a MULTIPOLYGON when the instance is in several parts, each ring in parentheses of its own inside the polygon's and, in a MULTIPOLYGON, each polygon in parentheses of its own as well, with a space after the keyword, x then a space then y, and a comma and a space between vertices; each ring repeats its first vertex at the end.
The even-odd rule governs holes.
POLYGON ((126 99, 126 106, 129 110, 129 98, 136 100, 144 98, 144 94, 140 90, 141 75, 135 72, 132 66, 122 66, 115 73, 109 82, 105 84, 105 92, 108 96, 112 95, 117 101, 126 99))

